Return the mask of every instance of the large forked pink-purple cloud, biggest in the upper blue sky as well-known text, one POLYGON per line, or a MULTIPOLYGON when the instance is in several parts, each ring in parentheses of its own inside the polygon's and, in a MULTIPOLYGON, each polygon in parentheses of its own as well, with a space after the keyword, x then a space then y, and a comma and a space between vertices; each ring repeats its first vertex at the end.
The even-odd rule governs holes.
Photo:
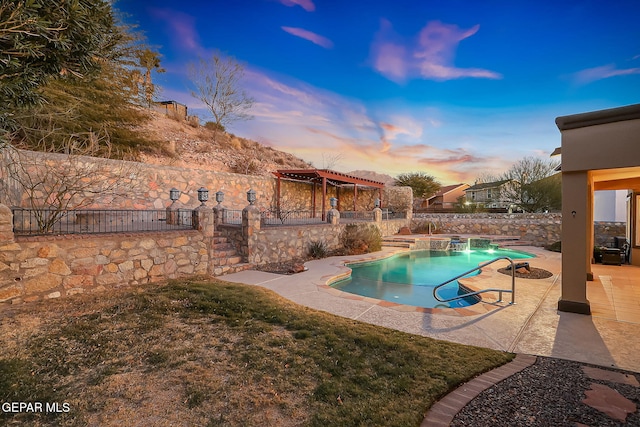
POLYGON ((395 82, 408 78, 451 80, 465 77, 500 79, 502 75, 482 68, 457 68, 458 44, 478 32, 479 25, 462 30, 456 25, 429 22, 413 43, 403 41, 391 23, 382 20, 371 47, 373 68, 395 82))

